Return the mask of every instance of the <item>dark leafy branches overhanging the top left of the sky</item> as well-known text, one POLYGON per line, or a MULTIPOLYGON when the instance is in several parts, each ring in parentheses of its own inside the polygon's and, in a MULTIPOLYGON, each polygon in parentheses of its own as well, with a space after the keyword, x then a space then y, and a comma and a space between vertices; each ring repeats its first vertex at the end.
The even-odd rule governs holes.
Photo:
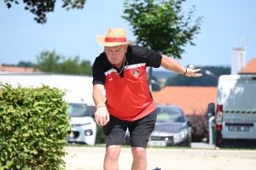
MULTIPOLYGON (((70 8, 84 8, 84 3, 86 0, 62 0, 63 5, 62 8, 67 8, 69 10, 70 8)), ((19 4, 18 0, 4 0, 4 3, 6 3, 7 8, 11 8, 11 3, 19 4)), ((23 0, 23 3, 25 3, 25 9, 29 10, 32 14, 35 14, 36 17, 34 20, 36 20, 39 24, 46 23, 46 14, 49 12, 53 12, 55 9, 55 0, 23 0)))

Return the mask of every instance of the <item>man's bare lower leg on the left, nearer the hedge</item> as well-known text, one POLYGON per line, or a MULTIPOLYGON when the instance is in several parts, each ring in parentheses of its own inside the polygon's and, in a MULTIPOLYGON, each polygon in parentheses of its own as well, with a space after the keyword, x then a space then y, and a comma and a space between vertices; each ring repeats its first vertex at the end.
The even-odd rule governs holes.
POLYGON ((118 170, 119 169, 119 154, 121 145, 110 145, 106 148, 104 159, 104 170, 118 170))

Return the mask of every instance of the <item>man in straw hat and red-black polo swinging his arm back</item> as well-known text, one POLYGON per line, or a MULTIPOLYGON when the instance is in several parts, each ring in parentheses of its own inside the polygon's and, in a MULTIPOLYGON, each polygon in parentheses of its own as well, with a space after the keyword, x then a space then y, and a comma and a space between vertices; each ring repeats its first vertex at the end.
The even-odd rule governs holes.
POLYGON ((176 60, 148 48, 126 42, 122 28, 97 36, 104 46, 92 66, 95 121, 107 136, 104 170, 118 170, 121 144, 128 128, 131 137, 132 170, 146 170, 148 138, 154 130, 156 107, 148 89, 146 67, 164 67, 187 77, 201 77, 201 69, 184 68, 176 60), (106 92, 106 99, 105 93, 106 92))

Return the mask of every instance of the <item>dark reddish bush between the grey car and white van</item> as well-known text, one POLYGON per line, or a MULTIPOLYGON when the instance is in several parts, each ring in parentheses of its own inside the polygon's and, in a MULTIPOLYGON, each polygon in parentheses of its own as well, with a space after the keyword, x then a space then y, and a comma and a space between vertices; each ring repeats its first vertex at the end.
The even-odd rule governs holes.
POLYGON ((207 142, 209 139, 208 117, 206 114, 193 114, 189 116, 189 120, 193 122, 191 127, 192 142, 207 142))

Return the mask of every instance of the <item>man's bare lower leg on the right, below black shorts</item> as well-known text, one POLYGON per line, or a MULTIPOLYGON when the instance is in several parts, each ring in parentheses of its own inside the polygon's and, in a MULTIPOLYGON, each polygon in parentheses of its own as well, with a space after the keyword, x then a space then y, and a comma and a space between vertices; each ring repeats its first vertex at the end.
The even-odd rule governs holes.
POLYGON ((147 169, 147 156, 146 148, 131 147, 133 162, 131 170, 146 170, 147 169))

